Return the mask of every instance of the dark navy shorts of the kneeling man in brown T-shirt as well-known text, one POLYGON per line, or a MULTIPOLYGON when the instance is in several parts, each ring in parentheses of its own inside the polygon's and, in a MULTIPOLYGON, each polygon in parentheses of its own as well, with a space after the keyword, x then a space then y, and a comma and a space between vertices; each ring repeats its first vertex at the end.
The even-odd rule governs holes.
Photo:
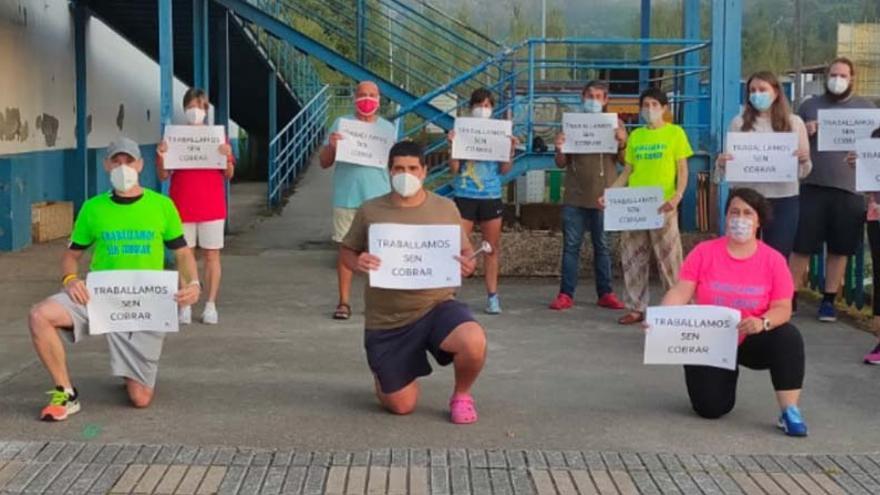
POLYGON ((420 376, 431 374, 428 355, 437 364, 452 362, 452 354, 440 344, 462 323, 475 321, 466 304, 450 300, 435 306, 425 316, 409 325, 391 330, 364 332, 364 348, 370 370, 379 380, 382 393, 391 394, 409 385, 420 376))

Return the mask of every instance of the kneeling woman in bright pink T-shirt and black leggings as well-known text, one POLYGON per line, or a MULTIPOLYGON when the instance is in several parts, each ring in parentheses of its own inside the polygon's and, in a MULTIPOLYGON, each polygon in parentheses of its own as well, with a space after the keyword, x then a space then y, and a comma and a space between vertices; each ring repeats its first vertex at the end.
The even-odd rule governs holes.
MULTIPOLYGON (((806 436, 798 410, 804 381, 804 341, 790 323, 794 283, 785 258, 758 240, 770 219, 770 203, 754 189, 730 192, 726 235, 691 251, 678 283, 663 298, 664 306, 707 304, 740 310, 737 363, 770 370, 786 435, 806 436)), ((685 366, 691 405, 704 418, 720 418, 733 409, 739 370, 685 366)))

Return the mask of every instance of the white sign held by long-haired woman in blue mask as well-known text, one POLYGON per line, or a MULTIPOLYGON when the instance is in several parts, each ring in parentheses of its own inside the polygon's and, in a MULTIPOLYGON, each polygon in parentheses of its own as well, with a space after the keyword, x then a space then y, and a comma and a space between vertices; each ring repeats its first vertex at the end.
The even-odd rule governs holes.
POLYGON ((797 134, 728 132, 728 182, 793 182, 798 179, 797 134))

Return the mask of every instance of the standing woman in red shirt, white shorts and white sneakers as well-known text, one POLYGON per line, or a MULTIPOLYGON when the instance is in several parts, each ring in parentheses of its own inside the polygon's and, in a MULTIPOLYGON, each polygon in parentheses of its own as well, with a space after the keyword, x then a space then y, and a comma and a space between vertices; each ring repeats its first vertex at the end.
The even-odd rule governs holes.
MULTIPOLYGON (((190 88, 183 96, 183 109, 189 125, 205 125, 208 117, 208 95, 204 90, 190 88)), ((159 144, 156 170, 159 180, 171 178, 169 195, 180 219, 183 233, 190 248, 200 248, 205 259, 205 285, 208 300, 202 313, 202 322, 215 325, 217 314, 217 293, 220 291, 220 250, 224 244, 226 224, 226 181, 235 173, 235 158, 228 142, 220 145, 220 153, 226 155, 226 169, 188 169, 166 170, 164 165, 168 143, 159 144)), ((192 308, 180 308, 180 323, 192 323, 192 308)))

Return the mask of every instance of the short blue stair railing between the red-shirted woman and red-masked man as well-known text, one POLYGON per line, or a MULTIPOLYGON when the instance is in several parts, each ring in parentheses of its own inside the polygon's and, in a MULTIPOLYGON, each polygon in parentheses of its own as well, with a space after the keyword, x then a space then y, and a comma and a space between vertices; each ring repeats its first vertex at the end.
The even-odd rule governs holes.
POLYGON ((321 88, 269 143, 267 203, 274 208, 324 139, 329 86, 321 88))

